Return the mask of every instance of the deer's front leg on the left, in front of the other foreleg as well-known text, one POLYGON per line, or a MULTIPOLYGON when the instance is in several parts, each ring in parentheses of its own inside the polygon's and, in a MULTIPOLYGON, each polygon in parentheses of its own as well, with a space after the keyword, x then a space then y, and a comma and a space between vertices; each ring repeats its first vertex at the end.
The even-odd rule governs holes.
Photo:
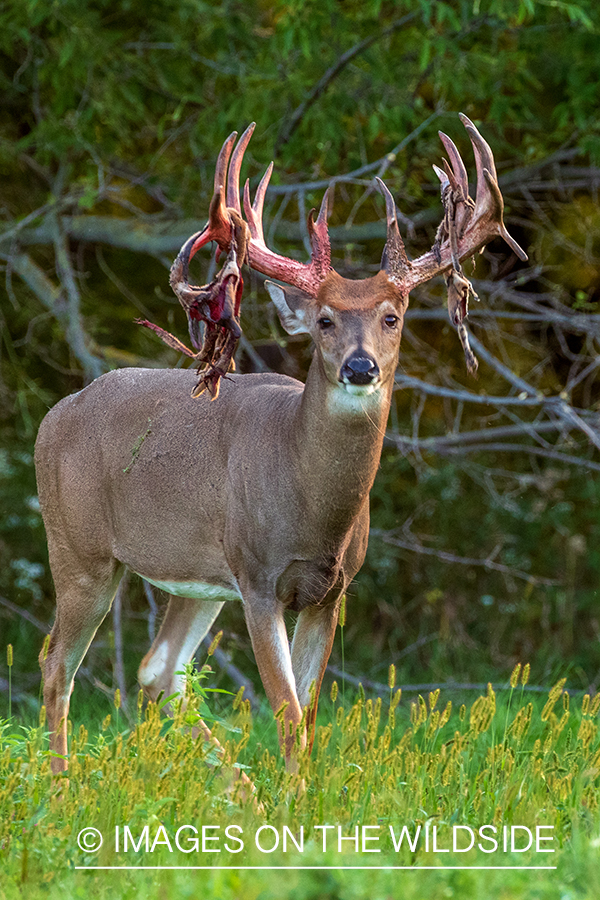
MULTIPOLYGON (((271 708, 277 715, 285 707, 283 722, 278 719, 279 742, 285 754, 286 768, 294 771, 296 766, 292 752, 302 709, 296 693, 283 607, 276 600, 269 602, 263 597, 253 599, 254 603, 245 598, 246 624, 271 708)), ((302 746, 305 745, 306 738, 303 737, 302 746)))

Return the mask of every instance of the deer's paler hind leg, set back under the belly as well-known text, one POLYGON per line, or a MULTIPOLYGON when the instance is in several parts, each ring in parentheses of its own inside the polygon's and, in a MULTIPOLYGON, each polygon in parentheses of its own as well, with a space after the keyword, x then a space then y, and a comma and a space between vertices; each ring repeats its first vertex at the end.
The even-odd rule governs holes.
MULTIPOLYGON (((164 697, 183 692, 185 677, 181 673, 208 634, 223 603, 223 600, 169 598, 160 630, 138 670, 138 680, 150 700, 156 701, 161 692, 164 697)), ((204 728, 207 737, 210 732, 204 728)))

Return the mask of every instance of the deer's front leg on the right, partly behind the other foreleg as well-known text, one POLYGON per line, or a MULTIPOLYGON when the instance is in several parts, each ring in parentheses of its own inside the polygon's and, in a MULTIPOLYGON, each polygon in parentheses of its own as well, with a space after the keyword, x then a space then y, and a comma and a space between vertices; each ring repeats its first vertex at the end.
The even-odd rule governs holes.
POLYGON ((340 611, 340 597, 325 606, 308 606, 298 615, 292 641, 292 669, 302 708, 309 707, 306 730, 309 747, 315 737, 315 722, 321 682, 333 647, 340 611), (314 695, 311 697, 311 685, 314 695))

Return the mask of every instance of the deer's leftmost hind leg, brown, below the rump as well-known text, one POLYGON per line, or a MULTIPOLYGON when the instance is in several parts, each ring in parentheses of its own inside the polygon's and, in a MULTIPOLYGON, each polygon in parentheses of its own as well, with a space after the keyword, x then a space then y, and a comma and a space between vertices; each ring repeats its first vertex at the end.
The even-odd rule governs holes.
POLYGON ((66 562, 63 556, 61 565, 53 566, 56 619, 47 651, 40 653, 50 749, 60 754, 51 760, 55 774, 68 768, 67 716, 75 675, 111 607, 123 572, 115 560, 96 564, 87 572, 81 571, 79 561, 70 560, 73 566, 66 562))

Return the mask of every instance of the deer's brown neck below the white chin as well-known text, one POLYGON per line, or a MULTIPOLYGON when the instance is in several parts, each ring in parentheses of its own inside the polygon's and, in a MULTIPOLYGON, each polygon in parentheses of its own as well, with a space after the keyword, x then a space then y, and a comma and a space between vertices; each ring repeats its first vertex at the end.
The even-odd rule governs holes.
MULTIPOLYGON (((367 502, 381 458, 393 382, 357 397, 315 355, 294 422, 296 471, 309 516, 347 528, 367 502)), ((324 523, 321 523, 324 524, 324 523)))

